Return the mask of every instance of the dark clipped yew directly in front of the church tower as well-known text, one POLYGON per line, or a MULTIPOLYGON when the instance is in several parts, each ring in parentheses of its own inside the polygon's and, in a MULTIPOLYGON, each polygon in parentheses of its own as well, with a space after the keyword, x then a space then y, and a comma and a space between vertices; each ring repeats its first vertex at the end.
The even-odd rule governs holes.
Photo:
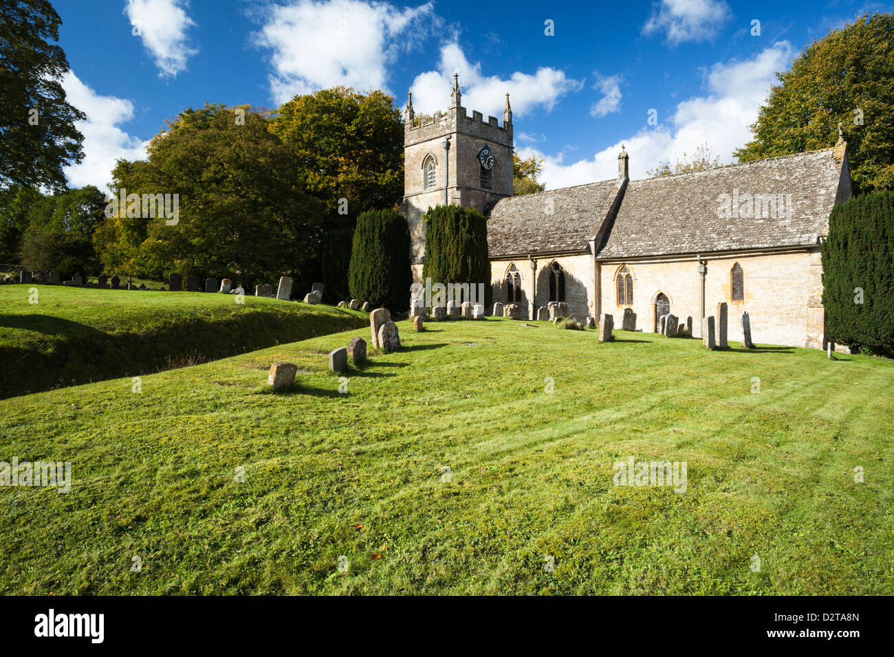
POLYGON ((422 277, 433 283, 484 283, 485 307, 491 305, 491 265, 487 259, 487 217, 470 207, 428 209, 426 262, 422 277))

